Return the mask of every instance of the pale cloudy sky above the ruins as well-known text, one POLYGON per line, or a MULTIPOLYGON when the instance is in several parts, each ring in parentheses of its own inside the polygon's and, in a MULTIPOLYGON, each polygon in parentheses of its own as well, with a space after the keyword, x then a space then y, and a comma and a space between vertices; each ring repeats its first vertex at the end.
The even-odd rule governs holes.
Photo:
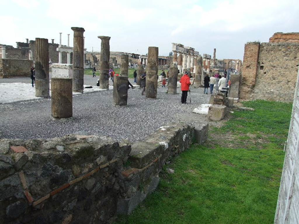
POLYGON ((0 44, 26 38, 73 44, 71 27, 85 29, 85 48, 100 51, 97 36, 111 36, 110 50, 168 56, 171 43, 217 59, 243 60, 246 42, 269 42, 275 32, 299 32, 298 0, 0 0, 0 44))

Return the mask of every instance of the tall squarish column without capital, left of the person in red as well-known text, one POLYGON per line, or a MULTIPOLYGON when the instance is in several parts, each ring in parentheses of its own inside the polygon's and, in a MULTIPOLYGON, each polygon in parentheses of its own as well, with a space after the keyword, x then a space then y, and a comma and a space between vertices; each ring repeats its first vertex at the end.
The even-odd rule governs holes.
POLYGON ((145 96, 155 98, 157 97, 158 87, 158 47, 149 47, 147 54, 147 76, 145 86, 145 96))

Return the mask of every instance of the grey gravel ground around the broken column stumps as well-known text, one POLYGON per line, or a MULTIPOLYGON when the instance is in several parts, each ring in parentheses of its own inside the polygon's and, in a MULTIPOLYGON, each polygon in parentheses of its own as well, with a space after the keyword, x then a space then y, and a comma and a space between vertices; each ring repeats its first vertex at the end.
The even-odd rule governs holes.
MULTIPOLYGON (((92 81, 92 77, 88 78, 92 81)), ((135 142, 169 122, 208 122, 206 115, 192 113, 195 107, 209 101, 210 95, 203 94, 203 88, 191 88, 192 102, 187 105, 180 103, 179 88, 176 95, 167 94, 166 90, 159 87, 158 97, 150 99, 141 96, 141 89, 129 89, 127 106, 114 106, 111 90, 76 95, 73 117, 60 120, 51 117, 51 99, 0 104, 0 139, 52 138, 81 133, 135 142)))

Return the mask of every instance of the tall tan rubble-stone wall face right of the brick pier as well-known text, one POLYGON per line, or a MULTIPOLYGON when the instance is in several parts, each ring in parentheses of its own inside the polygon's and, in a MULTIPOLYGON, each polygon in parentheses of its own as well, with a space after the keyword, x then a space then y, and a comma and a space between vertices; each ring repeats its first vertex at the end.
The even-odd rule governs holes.
POLYGON ((252 99, 292 102, 298 63, 299 43, 261 43, 252 99))

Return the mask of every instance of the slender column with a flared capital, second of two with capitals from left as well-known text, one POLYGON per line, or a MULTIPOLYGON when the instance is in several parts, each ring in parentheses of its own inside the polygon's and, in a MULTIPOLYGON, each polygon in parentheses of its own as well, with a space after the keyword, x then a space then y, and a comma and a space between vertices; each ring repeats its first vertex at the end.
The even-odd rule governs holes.
POLYGON ((101 39, 100 58, 100 89, 109 89, 109 60, 110 60, 110 36, 98 36, 101 39))

